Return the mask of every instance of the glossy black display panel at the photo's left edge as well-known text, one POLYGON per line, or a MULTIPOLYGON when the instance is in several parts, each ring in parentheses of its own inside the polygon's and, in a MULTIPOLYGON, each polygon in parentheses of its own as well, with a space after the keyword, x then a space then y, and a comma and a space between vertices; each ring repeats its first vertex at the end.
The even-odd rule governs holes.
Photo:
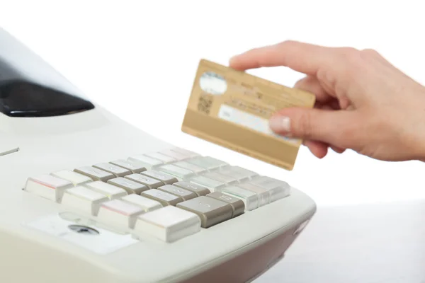
POLYGON ((29 81, 0 82, 0 112, 10 117, 50 117, 93 108, 88 100, 29 81))

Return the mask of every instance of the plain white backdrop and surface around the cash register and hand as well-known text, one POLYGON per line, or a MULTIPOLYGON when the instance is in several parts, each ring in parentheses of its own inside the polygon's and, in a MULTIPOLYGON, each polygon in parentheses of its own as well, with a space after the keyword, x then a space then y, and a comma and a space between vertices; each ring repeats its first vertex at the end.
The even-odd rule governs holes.
MULTIPOLYGON (((351 151, 342 155, 331 151, 319 160, 302 147, 295 169, 284 171, 181 132, 199 59, 227 64, 234 54, 283 40, 374 48, 424 83, 425 19, 420 1, 389 2, 0 0, 0 25, 67 76, 91 100, 145 132, 287 180, 307 192, 319 207, 317 220, 293 246, 292 258, 288 253, 287 264, 282 262, 259 282, 389 282, 388 276, 394 282, 422 282, 419 274, 424 272, 420 272, 418 260, 423 260, 423 253, 416 254, 403 269, 400 262, 412 260, 412 256, 405 254, 402 246, 398 246, 399 255, 390 252, 388 246, 376 248, 384 238, 390 241, 389 246, 402 245, 400 241, 412 243, 417 239, 414 233, 388 238, 385 235, 397 230, 400 219, 390 221, 387 214, 373 213, 389 209, 396 215, 406 214, 406 219, 419 216, 421 207, 408 211, 409 204, 400 208, 399 204, 390 203, 425 198, 424 163, 386 163, 351 151), (356 209, 340 206, 366 203, 377 207, 369 207, 367 215, 361 207, 359 213, 350 210, 351 223, 336 217, 347 209, 356 209), (383 225, 382 219, 389 222, 383 225), (327 229, 336 225, 340 232, 328 234, 327 229), (341 232, 347 231, 341 228, 344 225, 347 229, 357 227, 354 231, 363 239, 363 249, 361 245, 352 248, 351 240, 343 240, 353 236, 341 232), (316 235, 320 236, 314 238, 316 235), (324 238, 331 239, 326 249, 322 246, 324 238), (333 246, 335 241, 341 244, 333 246), (368 255, 362 253, 365 249, 368 255), (327 256, 327 260, 318 257, 318 253, 327 256), (394 260, 388 260, 388 254, 394 260), (407 259, 402 260, 404 256, 407 259), (380 259, 387 261, 378 264, 380 259), (290 277, 286 276, 289 273, 290 277), (305 274, 309 273, 312 277, 307 279, 305 274), (387 277, 380 277, 381 274, 387 277)), ((293 86, 302 77, 284 68, 249 73, 286 86, 293 86)), ((414 224, 403 220, 403 225, 404 231, 421 229, 417 226, 419 221, 414 224)))

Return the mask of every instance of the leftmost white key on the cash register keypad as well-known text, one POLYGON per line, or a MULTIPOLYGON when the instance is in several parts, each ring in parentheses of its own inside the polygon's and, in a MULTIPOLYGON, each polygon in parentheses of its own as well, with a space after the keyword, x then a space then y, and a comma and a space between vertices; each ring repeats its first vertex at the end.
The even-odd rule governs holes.
POLYGON ((25 190, 39 195, 40 197, 44 197, 47 200, 61 202, 64 191, 72 187, 74 187, 74 185, 67 180, 45 174, 28 178, 25 190))

